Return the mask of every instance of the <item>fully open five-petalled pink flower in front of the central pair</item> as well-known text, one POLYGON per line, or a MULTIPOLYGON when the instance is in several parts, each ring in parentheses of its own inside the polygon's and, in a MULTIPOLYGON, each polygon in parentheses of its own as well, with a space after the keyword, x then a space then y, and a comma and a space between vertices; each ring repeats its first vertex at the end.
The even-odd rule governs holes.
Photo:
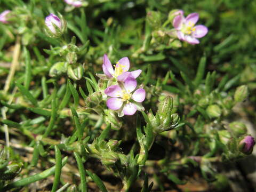
POLYGON ((108 108, 118 110, 119 117, 133 115, 137 110, 143 110, 141 102, 145 100, 146 92, 141 88, 134 91, 136 86, 136 80, 129 76, 125 79, 123 87, 119 85, 107 87, 105 93, 111 97, 107 100, 108 108))

